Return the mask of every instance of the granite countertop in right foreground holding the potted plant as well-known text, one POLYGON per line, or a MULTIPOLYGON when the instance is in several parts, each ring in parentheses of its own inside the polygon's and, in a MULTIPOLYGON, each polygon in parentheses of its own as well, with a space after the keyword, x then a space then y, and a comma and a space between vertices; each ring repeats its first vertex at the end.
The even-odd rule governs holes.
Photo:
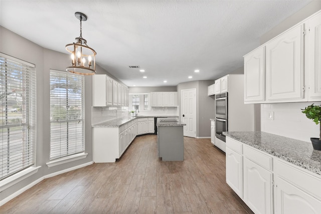
POLYGON ((314 150, 310 142, 259 131, 223 133, 228 137, 321 175, 321 151, 314 150))

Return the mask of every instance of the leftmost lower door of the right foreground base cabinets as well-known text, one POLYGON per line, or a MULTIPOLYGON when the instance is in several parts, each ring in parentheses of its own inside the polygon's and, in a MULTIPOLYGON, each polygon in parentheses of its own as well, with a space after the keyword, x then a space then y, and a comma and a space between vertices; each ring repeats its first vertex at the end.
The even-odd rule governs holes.
POLYGON ((242 155, 226 148, 226 183, 243 198, 242 155))

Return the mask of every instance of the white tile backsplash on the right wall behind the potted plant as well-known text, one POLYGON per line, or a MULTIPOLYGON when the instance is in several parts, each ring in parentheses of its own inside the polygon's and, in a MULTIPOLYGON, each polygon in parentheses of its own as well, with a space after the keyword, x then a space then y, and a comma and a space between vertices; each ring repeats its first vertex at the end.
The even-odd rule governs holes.
POLYGON ((301 109, 321 102, 261 104, 261 131, 310 142, 319 137, 320 126, 307 119, 301 109))

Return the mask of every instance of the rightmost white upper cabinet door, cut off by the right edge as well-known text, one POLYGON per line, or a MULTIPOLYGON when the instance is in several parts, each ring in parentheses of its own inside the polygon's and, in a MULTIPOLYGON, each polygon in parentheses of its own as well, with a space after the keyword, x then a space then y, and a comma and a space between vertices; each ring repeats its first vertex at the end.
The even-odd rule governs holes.
POLYGON ((307 21, 308 101, 321 101, 321 13, 307 21))

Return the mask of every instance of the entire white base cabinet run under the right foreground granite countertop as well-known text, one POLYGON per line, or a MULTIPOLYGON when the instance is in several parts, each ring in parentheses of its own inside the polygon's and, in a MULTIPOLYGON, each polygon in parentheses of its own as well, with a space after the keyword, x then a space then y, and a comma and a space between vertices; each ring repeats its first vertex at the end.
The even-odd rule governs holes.
POLYGON ((226 138, 226 182, 254 213, 321 210, 320 175, 230 137, 226 138))

